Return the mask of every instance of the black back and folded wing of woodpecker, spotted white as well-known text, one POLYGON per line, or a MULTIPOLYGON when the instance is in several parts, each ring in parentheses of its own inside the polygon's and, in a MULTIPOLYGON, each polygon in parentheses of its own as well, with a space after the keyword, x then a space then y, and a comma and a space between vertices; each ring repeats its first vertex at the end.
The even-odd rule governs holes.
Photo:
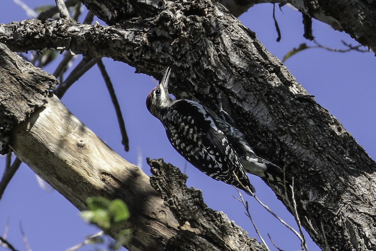
POLYGON ((210 110, 193 100, 176 100, 162 115, 161 121, 171 145, 193 166, 215 180, 255 191, 237 153, 223 131, 218 129, 210 110))

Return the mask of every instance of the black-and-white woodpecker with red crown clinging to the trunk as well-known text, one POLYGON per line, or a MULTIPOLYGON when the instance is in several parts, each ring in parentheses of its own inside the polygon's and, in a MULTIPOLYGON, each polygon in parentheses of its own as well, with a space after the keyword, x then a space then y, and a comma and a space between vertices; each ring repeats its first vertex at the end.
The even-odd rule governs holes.
POLYGON ((189 99, 171 99, 170 68, 147 96, 146 107, 159 119, 171 145, 200 171, 248 194, 255 192, 247 172, 284 187, 283 170, 258 157, 235 127, 209 108, 189 99))

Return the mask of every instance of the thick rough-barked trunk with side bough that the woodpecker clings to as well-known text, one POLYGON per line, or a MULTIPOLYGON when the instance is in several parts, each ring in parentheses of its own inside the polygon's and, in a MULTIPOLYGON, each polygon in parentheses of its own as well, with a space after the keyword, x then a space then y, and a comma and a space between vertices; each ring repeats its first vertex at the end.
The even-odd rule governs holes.
POLYGON ((194 97, 214 110, 223 102, 256 152, 295 177, 300 219, 322 249, 376 249, 375 162, 223 6, 180 0, 139 13, 145 3, 122 2, 119 11, 116 1, 83 2, 121 29, 32 20, 1 25, 0 41, 15 51, 67 45, 157 77, 173 64, 175 96, 194 97))

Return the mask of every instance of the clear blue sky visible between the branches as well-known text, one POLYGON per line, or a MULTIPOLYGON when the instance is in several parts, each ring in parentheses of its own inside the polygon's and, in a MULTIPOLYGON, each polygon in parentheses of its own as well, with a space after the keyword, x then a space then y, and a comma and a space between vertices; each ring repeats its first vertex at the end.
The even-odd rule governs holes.
MULTIPOLYGON (((18 5, 6 0, 0 8, 0 22, 10 23, 27 19, 18 5)), ((43 3, 54 5, 53 0, 24 1, 34 8, 43 3)), ((85 8, 83 8, 86 11, 85 8)), ((298 47, 300 43, 313 43, 303 38, 302 15, 287 6, 282 11, 276 8, 276 17, 282 39, 276 42, 277 33, 272 18, 273 5, 256 5, 241 15, 240 20, 256 32, 258 39, 278 58, 298 47), (283 12, 282 12, 283 11, 283 12)), ((327 24, 313 21, 313 35, 327 47, 345 49, 341 40, 356 45, 346 33, 333 30, 327 24)), ((78 56, 76 63, 80 61, 78 56)), ((317 102, 337 117, 344 127, 355 137, 368 154, 376 157, 374 130, 376 105, 375 57, 372 52, 329 52, 324 49, 309 49, 298 53, 285 62, 297 81, 315 95, 317 102)), ((62 102, 86 126, 123 158, 138 163, 142 154, 142 169, 150 175, 146 157, 164 158, 180 167, 189 176, 187 185, 203 191, 209 207, 226 213, 229 218, 256 237, 251 222, 244 214, 243 205, 232 198, 237 195, 233 187, 212 180, 199 172, 170 146, 161 123, 146 109, 145 100, 156 85, 156 81, 146 75, 134 74, 135 69, 121 62, 105 58, 109 76, 114 84, 129 135, 130 151, 124 152, 114 108, 102 76, 94 66, 76 82, 62 98, 62 102)), ((52 73, 56 64, 44 70, 52 73)), ((3 172, 5 158, 0 157, 0 172, 3 172)), ((250 176, 256 187, 256 195, 282 219, 296 228, 295 221, 271 190, 256 176, 250 176)), ((250 211, 256 225, 271 250, 276 250, 268 240, 269 233, 281 249, 299 250, 300 242, 285 226, 261 208, 254 199, 249 200, 250 211)), ((82 242, 85 236, 97 233, 98 228, 89 226, 79 217, 79 211, 57 191, 47 192, 38 185, 35 174, 25 164, 15 174, 0 201, 0 236, 9 222, 7 240, 18 250, 26 250, 20 233, 20 222, 27 236, 30 248, 38 251, 64 251, 82 242)), ((306 238, 310 239, 308 234, 306 238)), ((311 251, 320 250, 308 240, 311 251)), ((79 249, 93 250, 91 245, 79 249)), ((5 248, 0 247, 0 250, 5 248)))

